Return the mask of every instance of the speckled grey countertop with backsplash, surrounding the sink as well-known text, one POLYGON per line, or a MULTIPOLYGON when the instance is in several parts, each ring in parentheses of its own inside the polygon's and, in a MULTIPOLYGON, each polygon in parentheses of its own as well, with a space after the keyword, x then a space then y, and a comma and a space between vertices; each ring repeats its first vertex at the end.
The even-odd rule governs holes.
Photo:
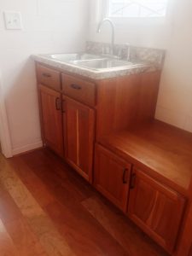
MULTIPOLYGON (((108 47, 108 44, 101 44, 95 42, 87 42, 85 52, 91 54, 103 54, 103 48, 108 47), (102 50, 102 52, 101 52, 102 50)), ((121 60, 125 61, 125 45, 116 44, 115 50, 121 60), (120 53, 120 54, 119 54, 120 53)), ((131 62, 137 64, 127 67, 106 68, 101 70, 94 70, 85 67, 79 67, 75 64, 58 61, 50 57, 50 55, 32 55, 34 61, 38 61, 49 67, 58 68, 63 72, 75 73, 90 79, 110 79, 119 76, 131 75, 135 73, 152 72, 160 70, 164 60, 164 50, 160 49, 144 49, 131 48, 131 62)))

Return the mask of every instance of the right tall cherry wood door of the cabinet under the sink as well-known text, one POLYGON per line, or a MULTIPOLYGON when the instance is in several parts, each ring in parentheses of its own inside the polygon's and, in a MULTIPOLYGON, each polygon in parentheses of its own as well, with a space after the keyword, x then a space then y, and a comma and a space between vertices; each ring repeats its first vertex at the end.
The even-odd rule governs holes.
POLYGON ((66 160, 91 183, 95 111, 68 97, 64 97, 63 102, 66 160))

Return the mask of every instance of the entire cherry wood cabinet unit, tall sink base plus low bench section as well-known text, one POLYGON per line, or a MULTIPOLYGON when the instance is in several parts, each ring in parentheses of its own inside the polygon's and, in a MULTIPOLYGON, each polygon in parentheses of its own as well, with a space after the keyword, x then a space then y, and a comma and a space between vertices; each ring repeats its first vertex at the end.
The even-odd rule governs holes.
POLYGON ((37 63, 37 79, 44 144, 173 253, 192 137, 154 122, 160 71, 93 80, 37 63))

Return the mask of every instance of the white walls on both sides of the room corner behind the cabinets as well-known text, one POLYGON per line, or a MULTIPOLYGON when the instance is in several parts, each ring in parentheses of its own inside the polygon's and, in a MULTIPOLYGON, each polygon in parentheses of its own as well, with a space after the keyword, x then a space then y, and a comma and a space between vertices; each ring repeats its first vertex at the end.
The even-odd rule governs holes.
MULTIPOLYGON (((0 71, 14 154, 41 144, 30 55, 81 50, 86 39, 108 42, 108 26, 96 34, 95 3, 96 0, 0 0, 0 71), (24 30, 6 31, 3 10, 20 11, 24 30)), ((116 43, 167 49, 156 117, 192 131, 192 1, 172 3, 164 23, 116 25, 116 43)))

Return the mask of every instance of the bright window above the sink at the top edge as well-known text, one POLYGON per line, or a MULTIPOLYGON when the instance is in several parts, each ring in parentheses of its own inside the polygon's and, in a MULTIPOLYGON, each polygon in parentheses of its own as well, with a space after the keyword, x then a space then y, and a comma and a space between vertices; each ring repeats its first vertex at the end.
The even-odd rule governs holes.
POLYGON ((108 0, 108 17, 156 18, 166 16, 168 0, 108 0))

